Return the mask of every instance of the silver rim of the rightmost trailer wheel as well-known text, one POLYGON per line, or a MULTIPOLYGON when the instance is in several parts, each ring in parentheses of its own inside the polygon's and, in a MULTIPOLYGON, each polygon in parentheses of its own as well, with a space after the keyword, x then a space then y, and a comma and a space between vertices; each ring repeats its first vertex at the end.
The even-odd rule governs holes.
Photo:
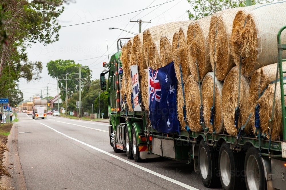
POLYGON ((246 164, 246 178, 249 190, 258 190, 260 186, 260 173, 256 158, 249 156, 246 164))

